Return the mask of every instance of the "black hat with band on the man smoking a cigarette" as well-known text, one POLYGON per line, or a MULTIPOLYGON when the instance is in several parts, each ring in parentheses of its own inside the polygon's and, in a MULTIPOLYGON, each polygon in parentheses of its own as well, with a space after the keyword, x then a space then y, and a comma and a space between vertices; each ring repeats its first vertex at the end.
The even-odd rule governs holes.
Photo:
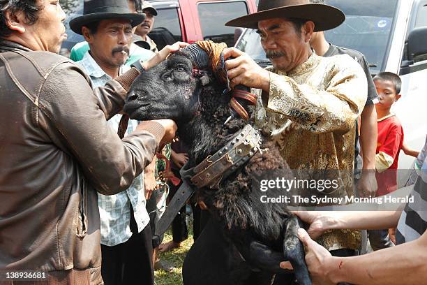
POLYGON ((145 14, 130 13, 127 0, 84 0, 83 15, 70 20, 70 28, 81 35, 85 24, 110 19, 127 19, 135 27, 144 22, 145 14))

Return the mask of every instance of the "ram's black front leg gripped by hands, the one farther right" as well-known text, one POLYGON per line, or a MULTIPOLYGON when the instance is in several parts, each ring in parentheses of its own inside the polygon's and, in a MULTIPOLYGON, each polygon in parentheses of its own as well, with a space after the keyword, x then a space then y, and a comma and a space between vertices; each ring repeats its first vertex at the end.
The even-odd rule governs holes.
POLYGON ((298 238, 297 231, 299 227, 300 224, 297 216, 292 216, 285 221, 283 226, 283 230, 285 231, 283 239, 283 253, 285 255, 285 259, 290 261, 294 268, 297 284, 311 285, 312 282, 306 265, 304 245, 298 238))

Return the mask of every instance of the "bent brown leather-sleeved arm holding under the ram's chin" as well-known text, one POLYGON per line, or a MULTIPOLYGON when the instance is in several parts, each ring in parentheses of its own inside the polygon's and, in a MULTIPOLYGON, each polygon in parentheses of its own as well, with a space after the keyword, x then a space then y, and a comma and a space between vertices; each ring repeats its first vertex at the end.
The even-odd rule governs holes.
POLYGON ((124 94, 112 80, 94 96, 80 69, 68 63, 50 73, 40 92, 40 127, 63 152, 77 159, 87 181, 106 195, 130 186, 165 135, 159 122, 143 122, 120 140, 107 126, 105 114, 117 109, 117 95, 124 94))

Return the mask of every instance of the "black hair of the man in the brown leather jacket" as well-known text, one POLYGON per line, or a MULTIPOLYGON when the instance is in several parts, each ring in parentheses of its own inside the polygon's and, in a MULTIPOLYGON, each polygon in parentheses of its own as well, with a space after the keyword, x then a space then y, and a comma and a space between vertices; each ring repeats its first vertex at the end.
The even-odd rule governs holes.
POLYGON ((38 5, 38 0, 0 0, 0 38, 12 34, 6 24, 6 13, 16 14, 22 12, 25 15, 25 24, 34 24, 38 20, 38 12, 43 9, 43 4, 38 5))

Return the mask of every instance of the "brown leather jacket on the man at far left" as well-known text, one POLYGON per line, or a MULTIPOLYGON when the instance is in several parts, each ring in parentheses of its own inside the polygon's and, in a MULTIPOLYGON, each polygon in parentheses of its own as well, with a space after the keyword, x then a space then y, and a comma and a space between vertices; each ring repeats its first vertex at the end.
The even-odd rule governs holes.
POLYGON ((165 133, 107 126, 137 74, 93 91, 69 59, 0 41, 0 270, 102 284, 96 191, 128 188, 165 133))

